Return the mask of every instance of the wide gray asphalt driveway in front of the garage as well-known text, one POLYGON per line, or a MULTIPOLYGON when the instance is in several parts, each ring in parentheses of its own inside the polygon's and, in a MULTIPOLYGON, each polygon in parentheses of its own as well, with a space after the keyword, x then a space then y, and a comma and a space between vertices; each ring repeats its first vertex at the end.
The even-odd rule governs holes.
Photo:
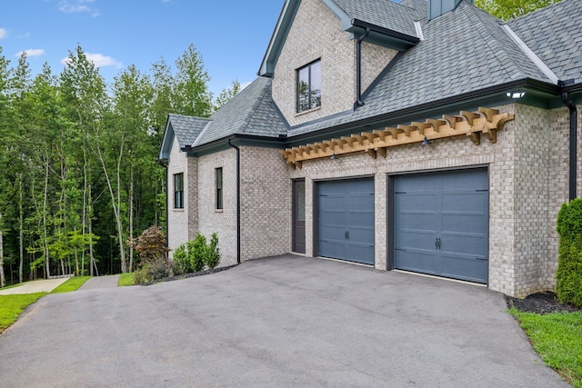
POLYGON ((49 294, 0 336, 0 385, 568 386, 500 293, 292 255, 49 294))

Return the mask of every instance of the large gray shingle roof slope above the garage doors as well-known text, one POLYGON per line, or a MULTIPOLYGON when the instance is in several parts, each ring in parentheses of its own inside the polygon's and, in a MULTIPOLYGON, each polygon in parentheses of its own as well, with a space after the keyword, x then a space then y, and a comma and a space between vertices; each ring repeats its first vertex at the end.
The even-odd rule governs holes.
POLYGON ((465 1, 423 24, 425 40, 395 58, 353 114, 292 128, 289 136, 389 114, 455 95, 532 78, 551 81, 504 31, 501 22, 465 1))

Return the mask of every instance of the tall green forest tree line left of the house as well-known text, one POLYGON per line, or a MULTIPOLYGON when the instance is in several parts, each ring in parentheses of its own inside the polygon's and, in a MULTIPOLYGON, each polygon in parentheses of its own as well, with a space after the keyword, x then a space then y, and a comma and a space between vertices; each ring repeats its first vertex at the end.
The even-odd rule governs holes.
POLYGON ((194 45, 148 70, 130 65, 108 85, 77 46, 60 74, 45 64, 33 76, 0 46, 0 287, 131 272, 127 239, 166 227, 167 114, 209 116, 240 85, 214 100, 194 45))

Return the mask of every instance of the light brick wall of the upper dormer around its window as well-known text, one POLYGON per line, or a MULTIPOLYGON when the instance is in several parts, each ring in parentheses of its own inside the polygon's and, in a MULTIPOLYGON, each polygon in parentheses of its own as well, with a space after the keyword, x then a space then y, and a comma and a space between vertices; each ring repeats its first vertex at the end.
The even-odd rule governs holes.
MULTIPOLYGON (((364 42, 362 92, 396 55, 364 42)), ((273 99, 291 125, 353 109, 356 102, 356 39, 342 32, 339 19, 320 0, 304 0, 276 63, 273 99), (317 25, 317 34, 313 34, 317 25), (321 107, 296 113, 296 70, 316 59, 322 65, 321 107)))

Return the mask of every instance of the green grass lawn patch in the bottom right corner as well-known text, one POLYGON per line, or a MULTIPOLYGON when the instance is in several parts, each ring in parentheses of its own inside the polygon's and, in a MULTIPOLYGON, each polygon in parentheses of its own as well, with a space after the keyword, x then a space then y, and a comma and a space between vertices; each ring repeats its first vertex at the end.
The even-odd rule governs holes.
POLYGON ((568 383, 582 388, 582 313, 509 313, 527 333, 536 352, 568 383))

